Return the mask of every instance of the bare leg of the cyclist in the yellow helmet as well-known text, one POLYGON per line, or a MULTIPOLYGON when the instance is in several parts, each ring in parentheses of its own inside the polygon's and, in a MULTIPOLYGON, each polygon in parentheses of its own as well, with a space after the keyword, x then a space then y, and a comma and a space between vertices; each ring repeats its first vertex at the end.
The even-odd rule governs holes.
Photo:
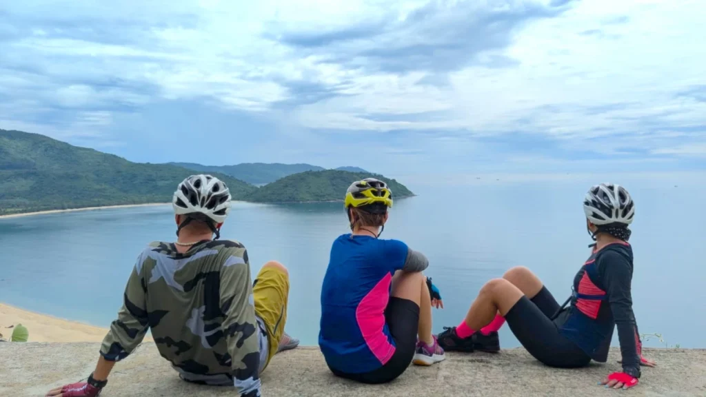
POLYGON ((426 288, 426 277, 420 272, 397 271, 393 277, 393 297, 399 297, 419 305, 419 340, 433 344, 431 336, 431 297, 426 288))

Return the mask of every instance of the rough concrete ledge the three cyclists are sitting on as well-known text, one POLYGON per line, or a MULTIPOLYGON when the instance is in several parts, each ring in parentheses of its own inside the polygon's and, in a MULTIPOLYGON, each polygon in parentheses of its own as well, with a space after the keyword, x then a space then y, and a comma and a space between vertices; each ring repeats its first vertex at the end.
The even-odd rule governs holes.
MULTIPOLYGON (((0 396, 44 396, 54 386, 88 377, 98 343, 0 343, 0 396)), ((706 396, 706 350, 646 349, 658 367, 645 368, 630 391, 597 382, 620 369, 614 349, 606 364, 553 369, 524 349, 447 354, 440 365, 412 365, 391 384, 369 386, 334 377, 318 348, 276 355, 263 374, 264 396, 706 396), (620 394, 618 394, 620 393, 620 394)), ((116 365, 101 396, 235 396, 229 387, 197 386, 177 377, 154 343, 116 365)))

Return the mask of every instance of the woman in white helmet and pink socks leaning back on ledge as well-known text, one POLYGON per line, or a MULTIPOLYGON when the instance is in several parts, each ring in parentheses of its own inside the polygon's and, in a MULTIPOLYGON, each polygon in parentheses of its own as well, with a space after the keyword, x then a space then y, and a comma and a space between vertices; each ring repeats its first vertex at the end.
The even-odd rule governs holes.
POLYGON ((441 346, 447 351, 500 350, 497 331, 507 321, 537 360, 578 368, 591 360, 606 362, 617 325, 623 371, 601 384, 616 389, 638 384, 640 365, 652 367, 654 362, 642 357, 630 294, 633 249, 628 225, 635 204, 622 186, 598 184, 586 194, 583 208, 595 243, 573 280, 573 295, 564 304, 571 302, 569 307, 560 307, 527 268, 512 268, 481 288, 459 326, 444 327, 438 336, 441 346))

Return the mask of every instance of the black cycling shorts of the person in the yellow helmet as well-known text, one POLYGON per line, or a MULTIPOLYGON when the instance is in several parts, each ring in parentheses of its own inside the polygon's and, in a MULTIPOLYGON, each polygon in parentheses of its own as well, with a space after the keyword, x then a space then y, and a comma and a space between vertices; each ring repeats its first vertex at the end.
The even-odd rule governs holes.
POLYGON ((390 360, 378 369, 362 374, 346 374, 329 367, 336 376, 366 384, 388 383, 399 377, 412 363, 417 349, 417 329, 419 328, 419 306, 411 300, 390 297, 385 308, 385 323, 395 340, 395 352, 390 360))

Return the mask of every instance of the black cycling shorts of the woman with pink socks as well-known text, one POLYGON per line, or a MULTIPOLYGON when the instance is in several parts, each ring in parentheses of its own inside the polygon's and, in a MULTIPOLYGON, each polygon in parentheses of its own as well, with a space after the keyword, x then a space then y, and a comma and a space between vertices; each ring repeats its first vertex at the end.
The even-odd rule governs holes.
POLYGON ((545 365, 559 368, 585 367, 591 357, 560 331, 568 311, 563 310, 556 319, 551 319, 559 309, 551 292, 542 288, 532 300, 526 296, 520 298, 505 314, 505 321, 522 346, 545 365))

